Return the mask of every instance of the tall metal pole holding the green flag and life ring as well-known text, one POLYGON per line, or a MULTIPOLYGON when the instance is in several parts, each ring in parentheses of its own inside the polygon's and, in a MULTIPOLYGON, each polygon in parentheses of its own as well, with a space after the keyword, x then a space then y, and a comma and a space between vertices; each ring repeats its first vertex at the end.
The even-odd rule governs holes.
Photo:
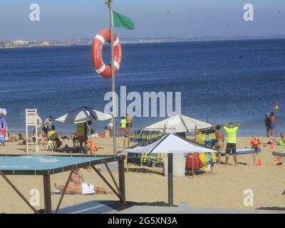
POLYGON ((112 94, 113 94, 113 153, 114 156, 117 154, 117 142, 116 142, 116 96, 115 96, 115 73, 114 73, 114 24, 113 24, 113 10, 112 10, 113 0, 106 0, 105 5, 108 6, 110 11, 110 33, 111 33, 111 71, 112 71, 112 94))

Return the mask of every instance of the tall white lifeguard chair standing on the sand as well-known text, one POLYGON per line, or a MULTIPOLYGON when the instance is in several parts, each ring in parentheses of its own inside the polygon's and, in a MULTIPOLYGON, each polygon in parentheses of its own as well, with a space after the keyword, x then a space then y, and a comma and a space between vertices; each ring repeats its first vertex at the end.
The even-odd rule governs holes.
POLYGON ((28 152, 28 145, 36 145, 36 152, 38 152, 38 118, 36 109, 26 109, 26 152, 28 152), (36 129, 36 142, 28 142, 29 126, 36 129))

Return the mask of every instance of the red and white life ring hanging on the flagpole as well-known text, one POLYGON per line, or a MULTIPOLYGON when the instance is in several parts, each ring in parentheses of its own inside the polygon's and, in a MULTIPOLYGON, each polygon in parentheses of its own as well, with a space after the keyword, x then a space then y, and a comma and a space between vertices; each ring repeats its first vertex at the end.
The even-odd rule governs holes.
MULTIPOLYGON (((110 43, 110 29, 103 29, 95 36, 92 44, 92 61, 95 71, 103 78, 111 78, 111 65, 105 65, 102 48, 105 42, 110 43)), ((114 33, 114 72, 117 73, 122 61, 122 46, 118 36, 114 33)))

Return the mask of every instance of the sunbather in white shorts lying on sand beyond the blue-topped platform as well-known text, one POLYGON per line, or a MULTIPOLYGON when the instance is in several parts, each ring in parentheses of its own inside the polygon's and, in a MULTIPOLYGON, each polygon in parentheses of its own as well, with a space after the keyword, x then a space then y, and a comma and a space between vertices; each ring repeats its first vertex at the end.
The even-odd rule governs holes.
MULTIPOLYGON (((56 185, 54 184, 56 189, 61 193, 64 190, 64 185, 56 185)), ((80 170, 74 170, 73 174, 71 175, 71 181, 68 183, 66 188, 66 194, 73 195, 73 194, 113 194, 112 191, 107 191, 103 189, 103 187, 95 187, 88 182, 84 182, 84 177, 81 175, 80 170)))

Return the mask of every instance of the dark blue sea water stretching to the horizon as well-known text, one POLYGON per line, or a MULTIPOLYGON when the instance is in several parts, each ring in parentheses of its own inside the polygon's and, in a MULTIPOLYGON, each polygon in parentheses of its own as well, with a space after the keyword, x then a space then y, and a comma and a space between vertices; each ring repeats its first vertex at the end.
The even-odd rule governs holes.
MULTIPOLYGON (((108 58, 108 55, 105 56, 108 58)), ((0 49, 0 107, 11 131, 24 131, 25 108, 41 118, 88 105, 103 110, 110 80, 93 71, 90 46, 0 49)), ((182 114, 241 123, 239 135, 264 135, 264 115, 279 103, 285 124, 285 40, 123 44, 117 91, 182 92, 182 114)), ((143 127, 159 118, 135 118, 143 127)), ((95 123, 101 131, 105 123, 95 123)), ((57 124, 59 132, 73 125, 57 124)))

